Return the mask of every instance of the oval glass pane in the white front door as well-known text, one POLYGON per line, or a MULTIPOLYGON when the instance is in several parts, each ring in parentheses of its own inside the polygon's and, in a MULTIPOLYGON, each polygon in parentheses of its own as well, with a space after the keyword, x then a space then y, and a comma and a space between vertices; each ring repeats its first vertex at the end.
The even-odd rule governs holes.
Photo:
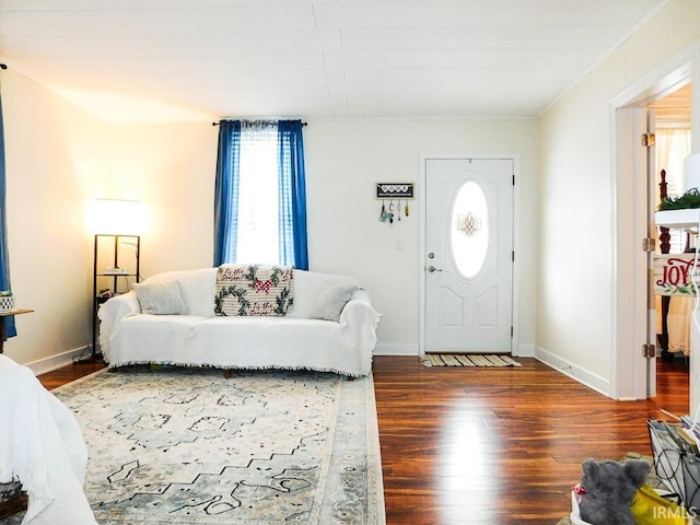
POLYGON ((467 180, 457 191, 450 228, 457 270, 466 278, 476 276, 489 247, 489 209, 481 186, 474 180, 467 180))

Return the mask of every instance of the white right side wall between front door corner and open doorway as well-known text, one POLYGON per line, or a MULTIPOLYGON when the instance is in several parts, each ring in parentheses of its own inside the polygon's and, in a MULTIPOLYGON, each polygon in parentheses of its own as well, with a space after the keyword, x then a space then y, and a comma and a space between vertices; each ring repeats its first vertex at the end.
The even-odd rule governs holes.
POLYGON ((606 394, 615 351, 610 100, 700 38, 672 0, 540 119, 537 355, 606 394))

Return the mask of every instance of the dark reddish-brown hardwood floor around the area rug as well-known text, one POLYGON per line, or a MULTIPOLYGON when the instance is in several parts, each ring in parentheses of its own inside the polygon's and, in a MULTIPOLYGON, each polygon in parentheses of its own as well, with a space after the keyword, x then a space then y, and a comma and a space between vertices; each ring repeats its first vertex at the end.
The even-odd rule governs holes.
MULTIPOLYGON (((542 524, 571 511, 581 462, 651 454, 648 419, 688 411, 686 364, 658 361, 658 396, 614 401, 534 359, 521 369, 425 368, 377 357, 387 525, 542 524)), ((101 368, 69 365, 54 388, 101 368)))

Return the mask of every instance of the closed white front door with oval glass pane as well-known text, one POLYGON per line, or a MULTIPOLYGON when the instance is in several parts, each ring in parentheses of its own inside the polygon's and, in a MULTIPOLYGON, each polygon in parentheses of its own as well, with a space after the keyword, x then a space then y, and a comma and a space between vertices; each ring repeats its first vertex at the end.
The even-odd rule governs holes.
POLYGON ((427 159, 424 350, 511 352, 512 159, 427 159))

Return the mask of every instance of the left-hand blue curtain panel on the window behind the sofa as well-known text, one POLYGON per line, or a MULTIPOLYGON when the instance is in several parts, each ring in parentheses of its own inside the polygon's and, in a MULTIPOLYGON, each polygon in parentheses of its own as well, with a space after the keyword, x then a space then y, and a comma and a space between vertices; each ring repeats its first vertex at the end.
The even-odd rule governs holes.
POLYGON ((214 188, 214 266, 236 260, 241 120, 219 122, 214 188))

